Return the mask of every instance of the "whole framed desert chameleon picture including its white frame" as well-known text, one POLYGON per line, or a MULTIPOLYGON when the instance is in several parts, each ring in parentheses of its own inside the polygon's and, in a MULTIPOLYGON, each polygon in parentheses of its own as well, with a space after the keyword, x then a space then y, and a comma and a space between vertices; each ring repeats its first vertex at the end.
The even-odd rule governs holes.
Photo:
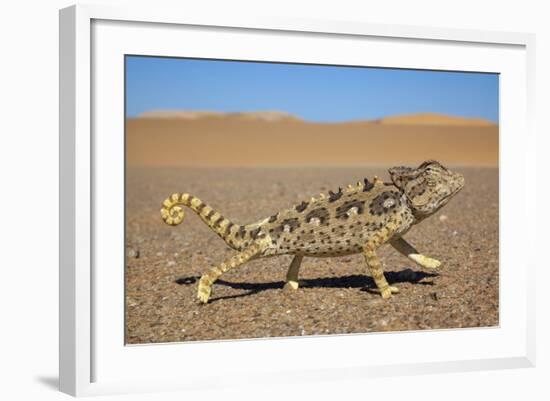
POLYGON ((533 44, 62 10, 61 390, 532 366, 533 44))

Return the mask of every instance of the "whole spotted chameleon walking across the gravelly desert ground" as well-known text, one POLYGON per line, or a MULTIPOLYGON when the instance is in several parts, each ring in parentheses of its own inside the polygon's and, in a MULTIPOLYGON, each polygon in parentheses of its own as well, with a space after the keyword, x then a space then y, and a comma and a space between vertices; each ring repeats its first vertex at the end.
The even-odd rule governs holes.
POLYGON ((304 257, 338 257, 362 253, 368 272, 383 299, 399 292, 384 277, 377 249, 390 244, 416 264, 435 269, 441 262, 425 256, 403 236, 415 224, 437 212, 464 187, 464 177, 435 160, 417 168, 388 170, 391 182, 378 177, 328 191, 262 220, 239 225, 188 193, 174 193, 162 203, 161 217, 168 225, 184 219, 190 208, 237 253, 199 280, 197 298, 207 303, 212 285, 224 273, 258 258, 294 255, 285 288, 299 288, 304 257))

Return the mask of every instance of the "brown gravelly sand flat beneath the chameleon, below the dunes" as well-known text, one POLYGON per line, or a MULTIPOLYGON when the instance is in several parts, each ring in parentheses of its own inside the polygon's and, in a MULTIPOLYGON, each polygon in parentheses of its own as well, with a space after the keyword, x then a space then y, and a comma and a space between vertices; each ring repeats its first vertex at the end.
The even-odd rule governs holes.
POLYGON ((498 324, 498 170, 457 169, 466 186, 406 238, 443 262, 413 265, 391 247, 380 256, 401 293, 372 293, 361 255, 305 259, 302 286, 282 289, 291 257, 252 261, 222 277, 211 302, 196 280, 232 254, 192 212, 169 227, 161 201, 190 192, 238 223, 269 216, 321 191, 377 174, 376 168, 163 168, 127 170, 127 343, 303 336, 498 324))

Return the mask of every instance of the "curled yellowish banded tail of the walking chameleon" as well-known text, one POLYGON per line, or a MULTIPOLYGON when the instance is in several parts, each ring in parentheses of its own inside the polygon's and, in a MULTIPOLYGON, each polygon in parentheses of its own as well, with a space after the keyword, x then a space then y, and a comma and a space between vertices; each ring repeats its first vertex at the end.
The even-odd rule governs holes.
POLYGON ((171 226, 180 224, 185 217, 182 206, 193 210, 230 247, 239 249, 244 244, 245 226, 234 224, 223 217, 221 213, 216 212, 199 198, 190 194, 175 193, 162 202, 160 215, 164 222, 171 226))

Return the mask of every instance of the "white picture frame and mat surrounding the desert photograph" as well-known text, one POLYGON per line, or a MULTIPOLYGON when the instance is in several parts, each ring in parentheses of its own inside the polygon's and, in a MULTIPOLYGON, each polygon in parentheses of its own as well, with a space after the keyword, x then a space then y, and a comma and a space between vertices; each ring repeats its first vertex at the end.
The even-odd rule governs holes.
MULTIPOLYGON (((179 43, 183 42, 180 40, 179 43)), ((535 175, 527 174, 527 171, 536 171, 531 116, 534 110, 534 43, 534 35, 523 33, 376 25, 358 21, 257 16, 237 20, 187 15, 185 10, 155 7, 78 5, 61 10, 60 390, 80 396, 198 389, 205 385, 245 386, 250 381, 256 385, 269 385, 281 381, 344 377, 361 380, 387 375, 534 366, 535 260, 530 255, 535 253, 530 251, 533 245, 520 237, 522 232, 534 231, 536 211, 529 203, 526 191, 514 190, 513 186, 521 183, 525 187, 536 187, 535 175), (143 32, 147 34, 140 36, 143 32), (174 53, 182 51, 177 50, 178 40, 181 39, 178 35, 197 35, 201 48, 189 48, 188 53, 183 50, 184 54, 174 53), (263 50, 254 50, 252 45, 247 47, 253 35, 260 35, 265 41, 263 50), (334 48, 330 55, 311 53, 303 57, 324 62, 327 61, 325 56, 340 57, 341 63, 364 65, 362 56, 350 49, 358 41, 365 42, 372 45, 375 54, 377 45, 383 41, 384 47, 401 46, 399 49, 403 51, 388 50, 384 53, 379 50, 370 65, 454 68, 503 74, 505 79, 501 84, 504 86, 501 86, 500 92, 500 326, 125 347, 119 337, 123 321, 113 323, 120 318, 123 304, 119 305, 120 308, 112 306, 118 305, 122 299, 120 277, 123 277, 123 265, 119 266, 120 271, 111 269, 106 274, 98 275, 94 270, 98 261, 114 255, 109 253, 111 251, 97 253, 98 244, 104 236, 107 240, 109 235, 120 234, 117 230, 122 224, 118 219, 120 207, 118 210, 106 210, 102 201, 109 188, 120 185, 121 175, 109 172, 109 179, 101 178, 107 177, 107 170, 120 172, 123 168, 124 155, 120 152, 120 136, 117 136, 123 135, 118 120, 124 118, 123 113, 113 117, 114 120, 103 114, 107 113, 106 110, 120 111, 123 91, 123 85, 120 85, 122 71, 120 64, 117 64, 120 55, 135 53, 135 42, 139 39, 138 52, 142 54, 196 56, 200 52, 210 52, 208 54, 215 54, 217 58, 233 59, 255 54, 254 59, 275 57, 277 60, 294 61, 298 57, 295 51, 300 49, 300 41, 323 42, 327 49, 331 49, 330 46, 334 45, 330 42, 334 38, 339 40, 341 54, 336 55, 337 49, 334 48), (224 49, 215 43, 219 39, 225 42, 224 49), (289 42, 287 46, 285 41, 289 39, 298 44, 290 45, 289 42), (130 43, 132 40, 134 43, 130 43), (353 42, 353 46, 347 47, 348 42, 353 42), (203 49, 209 46, 209 50, 203 49), (409 48, 414 50, 414 55, 409 48), (262 53, 264 50, 266 53, 262 53), (274 55, 269 51, 280 53, 274 55), (436 51, 440 60, 433 57, 436 51), (486 60, 488 51, 494 56, 491 60, 486 60), (460 54, 464 54, 467 60, 458 62, 460 54), (409 58, 405 59, 407 55, 409 58), (105 66, 114 71, 113 75, 104 73, 105 66), (107 93, 105 88, 115 92, 107 93), (110 139, 102 137, 98 141, 94 137, 98 129, 118 134, 111 135, 110 139), (521 213, 513 213, 514 207, 521 213), (113 226, 119 227, 110 233, 101 231, 106 221, 102 219, 107 216, 114 216, 111 221, 117 223, 113 226), (101 235, 98 237, 98 234, 101 235), (101 294, 98 287, 101 287, 101 294), (112 313, 105 312, 109 307, 112 313), (400 355, 377 351, 392 342, 414 342, 426 345, 428 350, 433 348, 433 352, 426 351, 420 358, 419 354, 409 352, 405 345, 400 355), (451 344, 453 347, 445 347, 451 344), (463 344, 470 346, 466 348, 463 344), (316 357, 320 347, 325 353, 323 360, 316 357), (364 349, 370 351, 360 351, 364 349), (342 350, 353 352, 344 352, 344 357, 342 350), (285 352, 296 359, 290 363, 285 352), (207 369, 209 363, 199 360, 199 354, 206 355, 207 359, 224 355, 236 362, 222 368, 221 371, 227 373, 222 376, 219 371, 210 372, 207 369), (365 358, 366 355, 368 358, 365 358), (154 370, 151 366, 155 367, 154 370), (234 370, 234 374, 228 369, 234 370)), ((112 252, 116 253, 115 248, 122 246, 119 250, 122 255, 123 242, 112 242, 112 252)))

